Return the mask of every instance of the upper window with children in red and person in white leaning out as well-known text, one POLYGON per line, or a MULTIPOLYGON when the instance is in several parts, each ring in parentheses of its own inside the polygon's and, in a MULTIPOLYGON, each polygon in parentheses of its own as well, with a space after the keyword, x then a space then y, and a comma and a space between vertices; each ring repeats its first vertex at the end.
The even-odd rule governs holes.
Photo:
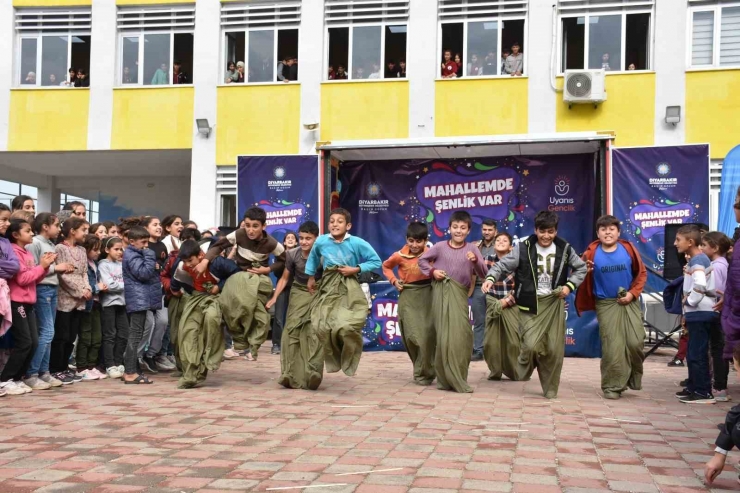
POLYGON ((440 76, 523 75, 527 8, 528 0, 440 0, 440 76))

